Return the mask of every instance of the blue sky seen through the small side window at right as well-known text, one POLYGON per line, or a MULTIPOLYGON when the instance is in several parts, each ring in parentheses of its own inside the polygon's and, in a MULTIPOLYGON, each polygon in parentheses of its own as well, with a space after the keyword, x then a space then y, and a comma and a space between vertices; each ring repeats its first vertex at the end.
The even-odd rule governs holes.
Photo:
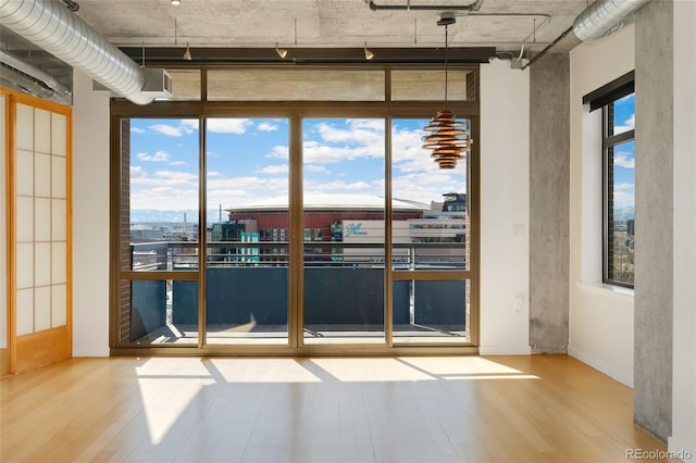
MULTIPOLYGON (((635 127, 635 93, 614 103, 614 134, 635 127)), ((635 207, 635 141, 614 147, 614 208, 635 207)))

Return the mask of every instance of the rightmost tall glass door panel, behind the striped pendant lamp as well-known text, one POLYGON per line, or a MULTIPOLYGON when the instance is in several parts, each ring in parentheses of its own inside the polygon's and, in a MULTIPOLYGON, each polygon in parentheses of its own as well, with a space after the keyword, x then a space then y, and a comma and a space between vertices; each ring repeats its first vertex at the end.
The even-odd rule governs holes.
MULTIPOLYGON (((423 155, 420 136, 427 122, 391 125, 391 189, 422 208, 418 217, 393 222, 394 342, 469 342, 471 160, 443 170, 423 155)), ((463 122, 469 129, 470 121, 463 122)))

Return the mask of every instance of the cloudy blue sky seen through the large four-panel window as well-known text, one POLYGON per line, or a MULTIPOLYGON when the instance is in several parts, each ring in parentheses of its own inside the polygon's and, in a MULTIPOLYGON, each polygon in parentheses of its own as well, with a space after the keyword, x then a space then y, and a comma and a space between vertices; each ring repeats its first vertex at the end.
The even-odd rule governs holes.
MULTIPOLYGON (((396 198, 430 203, 464 191, 465 163, 442 171, 421 148, 426 120, 394 121, 396 198)), ((304 120, 306 195, 384 196, 383 120, 304 120)), ((132 209, 198 207, 196 120, 132 120, 132 209)), ((210 118, 208 209, 287 196, 289 123, 282 118, 210 118)))

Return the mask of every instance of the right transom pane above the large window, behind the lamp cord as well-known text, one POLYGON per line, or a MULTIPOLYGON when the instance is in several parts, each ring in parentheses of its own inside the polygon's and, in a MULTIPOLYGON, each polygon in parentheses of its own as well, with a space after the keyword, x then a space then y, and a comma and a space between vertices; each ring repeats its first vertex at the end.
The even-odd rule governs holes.
MULTIPOLYGON (((448 70, 447 99, 467 101, 475 99, 475 73, 448 70)), ((445 99, 444 70, 391 71, 391 100, 438 101, 445 99)))

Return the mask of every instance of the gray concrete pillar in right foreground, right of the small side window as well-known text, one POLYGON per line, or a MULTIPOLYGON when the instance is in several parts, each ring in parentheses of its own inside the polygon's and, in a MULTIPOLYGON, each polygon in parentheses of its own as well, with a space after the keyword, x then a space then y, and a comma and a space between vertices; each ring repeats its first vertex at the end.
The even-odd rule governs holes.
POLYGON ((636 14, 634 418, 672 429, 673 4, 636 14))

